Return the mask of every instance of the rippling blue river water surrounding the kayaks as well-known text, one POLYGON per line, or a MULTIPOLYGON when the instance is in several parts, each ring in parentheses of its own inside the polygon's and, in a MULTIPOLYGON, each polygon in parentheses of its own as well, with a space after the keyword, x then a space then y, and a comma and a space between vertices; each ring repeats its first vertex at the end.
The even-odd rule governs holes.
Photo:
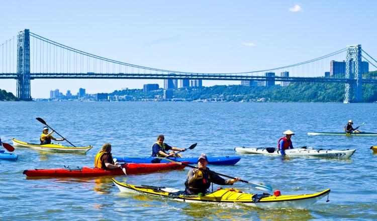
MULTIPOLYGON (((377 219, 377 145, 372 136, 308 136, 341 132, 349 119, 360 130, 377 132, 377 104, 342 103, 178 103, 178 102, 0 102, 0 136, 38 142, 43 118, 76 146, 93 145, 84 155, 43 153, 16 147, 16 162, 0 161, 1 220, 312 220, 377 219), (235 147, 275 147, 282 132, 293 130, 294 147, 355 148, 347 160, 242 155, 233 166, 212 170, 269 183, 282 194, 314 193, 326 198, 304 210, 263 210, 243 204, 193 204, 120 193, 112 177, 30 179, 25 169, 93 166, 102 145, 113 155, 148 156, 158 134, 180 148, 198 146, 185 156, 234 156, 235 147)), ((55 137, 58 137, 57 135, 55 137)), ((64 143, 67 144, 67 143, 64 143)), ((184 188, 188 168, 117 176, 132 184, 184 188)), ((217 188, 214 185, 214 188, 217 188)), ((244 192, 260 192, 237 182, 244 192)))

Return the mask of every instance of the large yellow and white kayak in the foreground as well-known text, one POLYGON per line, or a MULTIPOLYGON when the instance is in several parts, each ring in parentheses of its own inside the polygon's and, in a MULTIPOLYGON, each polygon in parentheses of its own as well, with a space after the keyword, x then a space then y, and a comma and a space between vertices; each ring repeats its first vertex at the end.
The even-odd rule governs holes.
POLYGON ((121 192, 145 193, 149 195, 162 196, 183 202, 210 202, 210 203, 234 203, 241 202, 258 208, 307 208, 321 198, 330 194, 330 189, 313 194, 301 195, 280 195, 274 196, 267 193, 251 194, 244 193, 234 188, 219 188, 216 191, 207 193, 203 196, 184 195, 184 190, 166 188, 159 186, 131 185, 121 183, 113 178, 113 182, 121 192))

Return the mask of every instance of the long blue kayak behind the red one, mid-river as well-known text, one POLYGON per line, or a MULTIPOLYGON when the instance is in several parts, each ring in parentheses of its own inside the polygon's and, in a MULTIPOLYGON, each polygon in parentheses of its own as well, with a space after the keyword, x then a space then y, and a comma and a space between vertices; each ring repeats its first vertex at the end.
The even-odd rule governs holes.
MULTIPOLYGON (((153 156, 146 156, 146 157, 140 157, 140 156, 126 156, 126 157, 118 157, 115 156, 114 158, 117 159, 117 161, 121 162, 128 162, 128 163, 153 163, 159 158, 153 157, 153 156), (154 160, 152 162, 152 160, 154 160)), ((182 161, 189 161, 191 164, 192 163, 198 163, 198 157, 169 157, 168 159, 174 160, 177 162, 182 162, 182 161)), ((241 157, 239 156, 223 156, 223 157, 208 157, 208 164, 212 165, 234 165, 238 161, 240 161, 241 157)), ((161 160, 161 163, 170 163, 168 160, 161 160)))

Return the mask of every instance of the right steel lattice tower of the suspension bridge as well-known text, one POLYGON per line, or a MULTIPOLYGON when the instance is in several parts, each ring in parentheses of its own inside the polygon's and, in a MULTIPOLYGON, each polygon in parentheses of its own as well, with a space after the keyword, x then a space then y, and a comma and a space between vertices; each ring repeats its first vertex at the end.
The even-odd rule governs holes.
POLYGON ((347 47, 345 78, 352 79, 352 76, 355 81, 352 85, 350 83, 345 84, 343 103, 349 103, 351 101, 350 91, 352 91, 352 89, 354 93, 353 101, 362 101, 361 45, 351 45, 347 47))

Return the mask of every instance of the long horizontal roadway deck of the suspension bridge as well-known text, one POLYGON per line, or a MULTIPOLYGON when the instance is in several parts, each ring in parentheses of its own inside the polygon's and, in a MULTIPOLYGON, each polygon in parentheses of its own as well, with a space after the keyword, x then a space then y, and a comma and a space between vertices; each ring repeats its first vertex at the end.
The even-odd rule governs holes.
MULTIPOLYGON (((0 73, 0 79, 18 79, 17 73, 0 73)), ((30 79, 185 79, 222 81, 287 81, 315 83, 352 83, 355 79, 325 77, 265 77, 227 74, 106 74, 106 73, 30 73, 30 79)), ((363 84, 377 84, 377 79, 362 79, 363 84)))

